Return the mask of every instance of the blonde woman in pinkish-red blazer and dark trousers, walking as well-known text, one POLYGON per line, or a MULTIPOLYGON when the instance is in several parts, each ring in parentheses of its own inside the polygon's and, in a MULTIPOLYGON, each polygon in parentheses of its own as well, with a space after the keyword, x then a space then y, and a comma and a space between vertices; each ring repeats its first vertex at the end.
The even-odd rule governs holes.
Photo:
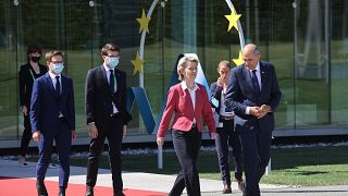
POLYGON ((166 107, 157 134, 157 144, 162 146, 172 114, 173 145, 182 166, 170 196, 181 195, 186 187, 189 196, 199 196, 199 176, 196 167, 201 145, 202 120, 207 123, 211 136, 216 135, 213 112, 209 102, 206 87, 195 83, 198 59, 183 57, 177 63, 178 79, 182 83, 170 88, 166 107))

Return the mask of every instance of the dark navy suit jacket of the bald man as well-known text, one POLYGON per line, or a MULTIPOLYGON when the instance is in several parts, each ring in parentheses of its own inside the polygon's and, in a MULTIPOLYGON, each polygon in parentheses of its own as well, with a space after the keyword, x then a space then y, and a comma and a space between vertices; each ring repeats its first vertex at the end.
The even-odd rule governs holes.
POLYGON ((226 107, 234 110, 235 130, 252 132, 259 125, 261 132, 274 130, 274 113, 269 112, 261 119, 246 114, 247 107, 269 105, 275 111, 279 105, 282 93, 278 87, 274 66, 269 62, 260 61, 261 91, 260 95, 253 88, 249 70, 245 65, 236 66, 231 71, 228 87, 226 90, 226 107))

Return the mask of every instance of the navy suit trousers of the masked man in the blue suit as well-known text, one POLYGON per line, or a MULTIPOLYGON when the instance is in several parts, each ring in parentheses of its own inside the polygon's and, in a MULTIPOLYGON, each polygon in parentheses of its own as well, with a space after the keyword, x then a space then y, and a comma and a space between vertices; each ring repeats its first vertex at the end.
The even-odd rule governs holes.
POLYGON ((70 151, 72 145, 72 131, 64 118, 59 120, 57 133, 44 132, 38 143, 39 160, 36 166, 37 180, 42 182, 47 172, 48 164, 51 161, 53 150, 53 140, 55 140, 59 157, 59 186, 66 188, 70 175, 70 151))

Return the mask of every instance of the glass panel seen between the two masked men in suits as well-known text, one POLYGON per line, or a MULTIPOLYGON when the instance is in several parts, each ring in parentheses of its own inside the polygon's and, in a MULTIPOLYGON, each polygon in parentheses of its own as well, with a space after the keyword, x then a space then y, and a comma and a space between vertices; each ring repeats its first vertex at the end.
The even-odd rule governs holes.
POLYGON ((88 1, 75 0, 59 3, 59 13, 62 15, 57 21, 59 35, 62 35, 59 46, 65 52, 65 73, 74 82, 76 130, 79 136, 87 136, 85 115, 85 82, 87 71, 92 68, 94 49, 91 39, 94 30, 94 7, 88 1))

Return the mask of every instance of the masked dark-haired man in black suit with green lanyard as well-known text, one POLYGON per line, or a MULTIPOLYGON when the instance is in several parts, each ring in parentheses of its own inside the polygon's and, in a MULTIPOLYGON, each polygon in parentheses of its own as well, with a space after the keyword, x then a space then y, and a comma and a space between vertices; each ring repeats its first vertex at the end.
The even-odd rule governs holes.
POLYGON ((109 160, 115 196, 124 195, 121 148, 122 138, 126 133, 126 124, 130 114, 126 111, 126 73, 115 66, 120 60, 120 48, 107 44, 101 49, 103 64, 89 70, 86 78, 86 117, 88 133, 91 137, 89 157, 87 162, 86 196, 94 195, 96 185, 99 157, 104 146, 109 143, 109 160))

